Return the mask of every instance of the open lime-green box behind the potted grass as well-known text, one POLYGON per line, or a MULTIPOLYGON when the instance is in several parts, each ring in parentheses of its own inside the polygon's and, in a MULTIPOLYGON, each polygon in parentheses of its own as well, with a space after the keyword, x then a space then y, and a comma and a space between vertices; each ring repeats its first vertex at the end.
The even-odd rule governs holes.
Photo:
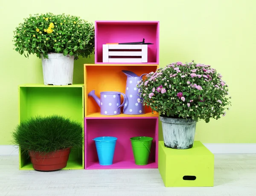
MULTIPOLYGON (((19 123, 35 115, 64 115, 81 122, 84 130, 84 84, 52 86, 23 84, 18 86, 19 123)), ((84 135, 84 131, 83 131, 84 135)), ((20 170, 33 170, 29 155, 19 150, 20 170)), ((83 147, 70 152, 64 170, 84 169, 83 147)))

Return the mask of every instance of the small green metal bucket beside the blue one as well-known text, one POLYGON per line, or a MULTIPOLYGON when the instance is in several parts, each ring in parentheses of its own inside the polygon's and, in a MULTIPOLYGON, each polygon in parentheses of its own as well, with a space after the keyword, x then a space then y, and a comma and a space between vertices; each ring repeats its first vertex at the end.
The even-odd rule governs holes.
POLYGON ((133 137, 130 138, 131 147, 134 154, 134 161, 137 165, 148 164, 151 144, 153 138, 151 137, 133 137))

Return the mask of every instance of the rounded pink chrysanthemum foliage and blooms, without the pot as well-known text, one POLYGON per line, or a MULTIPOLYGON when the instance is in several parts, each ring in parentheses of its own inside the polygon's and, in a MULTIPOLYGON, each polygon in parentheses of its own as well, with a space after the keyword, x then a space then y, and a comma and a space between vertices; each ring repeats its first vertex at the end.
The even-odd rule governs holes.
POLYGON ((163 117, 203 119, 225 116, 231 105, 228 85, 209 65, 172 63, 139 81, 140 99, 163 117))

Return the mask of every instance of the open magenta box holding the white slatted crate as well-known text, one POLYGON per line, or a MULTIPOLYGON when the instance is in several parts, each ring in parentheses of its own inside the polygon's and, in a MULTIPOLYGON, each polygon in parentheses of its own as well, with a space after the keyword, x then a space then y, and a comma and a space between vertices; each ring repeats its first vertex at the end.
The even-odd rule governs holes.
POLYGON ((143 38, 145 43, 154 43, 148 45, 148 64, 159 64, 159 21, 95 21, 95 64, 102 63, 102 44, 141 42, 143 38))

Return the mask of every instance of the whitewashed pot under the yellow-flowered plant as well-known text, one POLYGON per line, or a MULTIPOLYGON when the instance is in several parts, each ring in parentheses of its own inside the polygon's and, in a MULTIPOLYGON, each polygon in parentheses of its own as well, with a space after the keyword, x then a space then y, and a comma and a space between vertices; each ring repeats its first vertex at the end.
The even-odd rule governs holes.
POLYGON ((41 56, 44 84, 73 84, 74 57, 62 53, 49 53, 48 59, 41 56))

